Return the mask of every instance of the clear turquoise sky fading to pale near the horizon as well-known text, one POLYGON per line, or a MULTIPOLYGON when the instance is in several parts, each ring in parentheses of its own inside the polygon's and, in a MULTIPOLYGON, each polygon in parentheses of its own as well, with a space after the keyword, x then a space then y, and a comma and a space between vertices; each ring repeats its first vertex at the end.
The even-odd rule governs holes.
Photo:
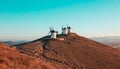
POLYGON ((0 41, 34 40, 67 25, 85 37, 120 36, 120 0, 0 0, 0 41))

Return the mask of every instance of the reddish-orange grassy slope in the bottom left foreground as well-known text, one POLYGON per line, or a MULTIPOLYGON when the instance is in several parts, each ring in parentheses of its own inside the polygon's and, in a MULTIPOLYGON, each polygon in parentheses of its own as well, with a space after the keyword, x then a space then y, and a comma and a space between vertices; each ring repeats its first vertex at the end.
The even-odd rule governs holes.
POLYGON ((21 54, 0 42, 0 69, 55 69, 49 63, 21 54))

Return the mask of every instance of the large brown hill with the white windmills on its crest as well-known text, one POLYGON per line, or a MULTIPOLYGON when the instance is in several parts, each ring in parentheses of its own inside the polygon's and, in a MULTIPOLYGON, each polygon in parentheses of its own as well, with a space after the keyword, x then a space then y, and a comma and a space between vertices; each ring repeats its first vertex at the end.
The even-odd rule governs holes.
POLYGON ((21 53, 43 58, 57 69, 120 69, 117 49, 74 33, 58 35, 59 39, 47 37, 16 47, 21 53))

